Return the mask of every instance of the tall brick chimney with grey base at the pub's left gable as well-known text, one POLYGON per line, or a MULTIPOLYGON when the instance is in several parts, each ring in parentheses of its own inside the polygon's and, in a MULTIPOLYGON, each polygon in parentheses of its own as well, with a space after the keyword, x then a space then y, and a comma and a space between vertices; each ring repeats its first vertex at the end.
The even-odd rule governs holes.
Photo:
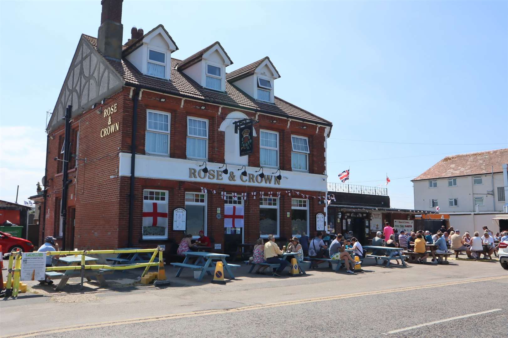
POLYGON ((102 0, 101 25, 97 35, 97 47, 107 58, 122 57, 122 2, 123 0, 102 0))

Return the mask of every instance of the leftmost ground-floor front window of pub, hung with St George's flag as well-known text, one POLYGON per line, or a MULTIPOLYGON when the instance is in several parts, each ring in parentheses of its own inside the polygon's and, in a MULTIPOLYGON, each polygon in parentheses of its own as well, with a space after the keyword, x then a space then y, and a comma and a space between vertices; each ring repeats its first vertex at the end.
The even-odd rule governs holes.
POLYGON ((143 239, 168 238, 168 191, 143 190, 143 239))

